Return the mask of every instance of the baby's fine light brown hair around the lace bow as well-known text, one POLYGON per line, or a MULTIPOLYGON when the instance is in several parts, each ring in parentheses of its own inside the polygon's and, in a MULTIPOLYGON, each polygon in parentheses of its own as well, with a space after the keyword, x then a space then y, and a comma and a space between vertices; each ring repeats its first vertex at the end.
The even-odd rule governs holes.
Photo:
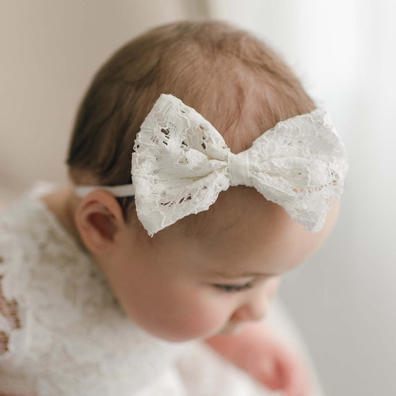
MULTIPOLYGON (((74 183, 131 183, 135 136, 161 93, 195 108, 236 154, 277 122, 316 108, 281 56, 230 22, 151 28, 101 66, 83 97, 67 154, 74 183)), ((133 197, 118 201, 128 221, 133 197)))

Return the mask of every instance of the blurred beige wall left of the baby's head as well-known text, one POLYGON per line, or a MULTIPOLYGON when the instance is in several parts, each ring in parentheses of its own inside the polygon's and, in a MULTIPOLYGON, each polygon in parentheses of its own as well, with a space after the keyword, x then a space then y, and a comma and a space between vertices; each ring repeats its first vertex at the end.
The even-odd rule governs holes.
POLYGON ((65 180, 69 133, 94 72, 136 34, 189 17, 189 4, 0 1, 0 198, 34 179, 65 180))

